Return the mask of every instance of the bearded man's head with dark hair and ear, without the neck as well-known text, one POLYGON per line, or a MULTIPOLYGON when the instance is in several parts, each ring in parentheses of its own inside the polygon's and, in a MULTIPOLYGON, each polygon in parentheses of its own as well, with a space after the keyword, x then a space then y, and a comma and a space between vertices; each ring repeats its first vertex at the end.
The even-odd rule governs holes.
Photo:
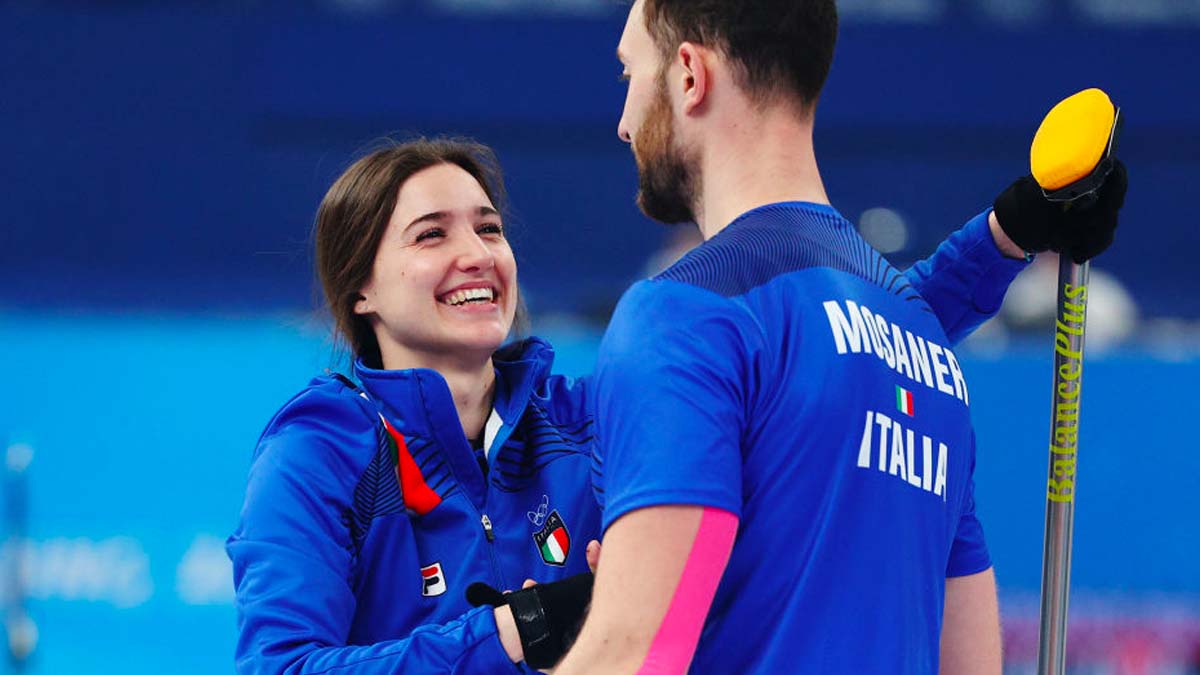
POLYGON ((618 135, 634 145, 642 210, 695 220, 703 127, 686 120, 713 98, 811 117, 836 35, 835 0, 636 0, 617 49, 629 80, 618 135))

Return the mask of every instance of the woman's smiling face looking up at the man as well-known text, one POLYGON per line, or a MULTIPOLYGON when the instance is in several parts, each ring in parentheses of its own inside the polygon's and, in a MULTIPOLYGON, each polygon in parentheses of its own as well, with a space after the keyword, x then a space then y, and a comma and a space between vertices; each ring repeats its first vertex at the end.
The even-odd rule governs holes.
POLYGON ((361 293, 384 368, 486 363, 512 327, 517 271, 479 181, 456 165, 404 181, 361 293))

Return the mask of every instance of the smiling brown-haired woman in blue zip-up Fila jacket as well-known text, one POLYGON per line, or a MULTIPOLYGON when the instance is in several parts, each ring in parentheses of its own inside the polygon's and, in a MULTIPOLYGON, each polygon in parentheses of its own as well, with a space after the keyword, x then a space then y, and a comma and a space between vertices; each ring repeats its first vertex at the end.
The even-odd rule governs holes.
MULTIPOLYGON (((240 673, 526 671, 511 613, 464 589, 588 569, 588 388, 550 375, 540 339, 502 348, 520 306, 503 198, 488 149, 416 141, 322 202, 318 269, 360 384, 313 380, 259 438, 228 543, 240 673)), ((986 233, 911 275, 954 305, 952 335, 991 313, 991 268, 956 252, 986 233)))

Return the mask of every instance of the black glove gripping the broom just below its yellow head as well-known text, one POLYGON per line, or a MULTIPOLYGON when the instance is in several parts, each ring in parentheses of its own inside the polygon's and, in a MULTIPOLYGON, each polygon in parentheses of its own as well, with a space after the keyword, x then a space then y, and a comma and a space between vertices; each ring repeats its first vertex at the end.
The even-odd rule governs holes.
POLYGON ((1049 249, 1082 263, 1112 244, 1127 187, 1124 165, 1114 159, 1112 171, 1091 204, 1075 202, 1064 209, 1062 202, 1048 201, 1033 177, 1026 175, 1001 192, 994 208, 1000 228, 1025 251, 1049 249))

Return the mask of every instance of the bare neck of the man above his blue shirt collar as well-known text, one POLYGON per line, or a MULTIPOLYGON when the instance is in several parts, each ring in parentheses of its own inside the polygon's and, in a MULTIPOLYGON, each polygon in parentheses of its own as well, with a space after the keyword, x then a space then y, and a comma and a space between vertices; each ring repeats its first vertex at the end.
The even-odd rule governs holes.
POLYGON ((701 157, 696 220, 704 239, 742 214, 776 202, 828 204, 812 150, 812 120, 784 106, 744 110, 721 125, 701 157))

